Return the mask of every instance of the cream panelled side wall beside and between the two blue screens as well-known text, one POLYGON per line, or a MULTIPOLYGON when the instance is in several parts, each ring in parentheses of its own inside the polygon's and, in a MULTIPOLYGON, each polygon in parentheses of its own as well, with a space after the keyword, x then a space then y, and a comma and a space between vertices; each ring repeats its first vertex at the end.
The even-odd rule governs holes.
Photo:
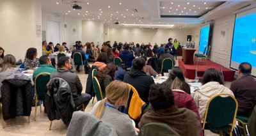
MULTIPOLYGON (((213 26, 210 59, 227 68, 230 67, 234 21, 235 15, 228 15, 227 17, 214 20, 213 26), (221 31, 225 31, 225 34, 221 34, 221 31)), ((193 29, 193 34, 198 35, 199 38, 200 27, 193 29)), ((196 42, 196 45, 198 47, 198 42, 196 42)))

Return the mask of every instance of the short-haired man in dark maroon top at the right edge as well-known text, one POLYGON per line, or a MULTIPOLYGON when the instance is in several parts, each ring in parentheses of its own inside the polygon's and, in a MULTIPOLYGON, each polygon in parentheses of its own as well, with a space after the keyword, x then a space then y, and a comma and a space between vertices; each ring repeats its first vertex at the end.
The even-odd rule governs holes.
POLYGON ((238 102, 237 116, 250 116, 256 102, 256 79, 252 77, 252 65, 241 63, 238 68, 239 79, 232 82, 230 89, 238 102))

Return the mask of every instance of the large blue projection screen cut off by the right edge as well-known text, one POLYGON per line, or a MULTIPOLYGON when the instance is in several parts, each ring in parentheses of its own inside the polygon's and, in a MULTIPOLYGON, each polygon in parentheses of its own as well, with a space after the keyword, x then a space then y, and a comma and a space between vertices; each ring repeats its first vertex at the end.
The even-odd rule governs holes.
POLYGON ((256 13, 236 18, 231 67, 243 62, 256 67, 256 13))

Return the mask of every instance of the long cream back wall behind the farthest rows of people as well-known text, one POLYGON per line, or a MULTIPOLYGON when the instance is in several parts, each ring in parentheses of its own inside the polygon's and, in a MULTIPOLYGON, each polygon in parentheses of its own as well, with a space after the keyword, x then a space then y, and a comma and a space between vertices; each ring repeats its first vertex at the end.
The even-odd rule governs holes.
POLYGON ((157 43, 167 43, 168 38, 177 38, 181 44, 186 43, 187 35, 191 35, 191 29, 158 29, 152 31, 141 28, 120 28, 110 27, 109 40, 111 43, 117 42, 134 42, 134 43, 145 43, 150 42, 152 45, 157 43))

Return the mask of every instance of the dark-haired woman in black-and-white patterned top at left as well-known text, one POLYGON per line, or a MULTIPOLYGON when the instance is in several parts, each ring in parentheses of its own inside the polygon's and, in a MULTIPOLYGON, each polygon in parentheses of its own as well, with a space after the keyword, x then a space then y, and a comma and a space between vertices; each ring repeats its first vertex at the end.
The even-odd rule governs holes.
POLYGON ((29 48, 26 52, 24 59, 24 69, 32 70, 40 66, 39 59, 37 58, 37 50, 35 48, 29 48))

